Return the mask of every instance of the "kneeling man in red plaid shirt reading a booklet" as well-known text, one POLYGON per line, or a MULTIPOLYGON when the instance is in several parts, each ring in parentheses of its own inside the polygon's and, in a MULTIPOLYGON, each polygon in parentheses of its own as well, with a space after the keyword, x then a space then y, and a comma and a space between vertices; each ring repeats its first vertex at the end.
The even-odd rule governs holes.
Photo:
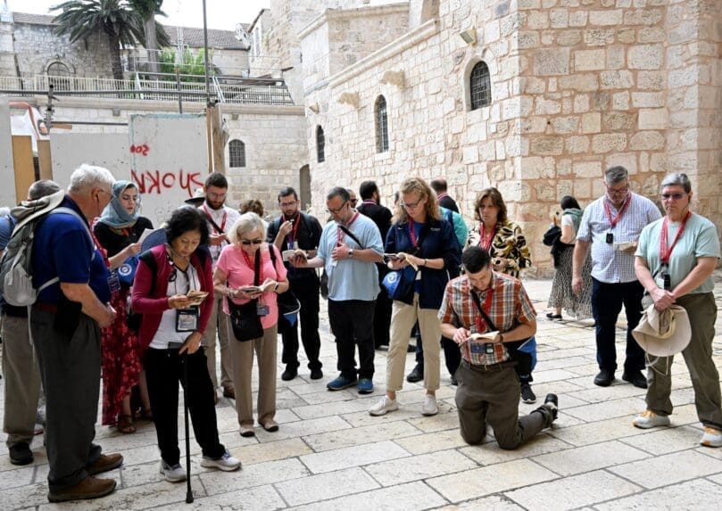
POLYGON ((469 444, 480 443, 488 423, 500 448, 516 449, 557 418, 555 394, 547 394, 544 405, 519 418, 519 376, 504 346, 535 334, 536 312, 519 279, 492 270, 489 252, 469 247, 461 262, 466 274, 446 285, 439 309, 442 334, 461 349, 456 372, 461 437, 469 444), (496 329, 491 342, 469 338, 496 329))

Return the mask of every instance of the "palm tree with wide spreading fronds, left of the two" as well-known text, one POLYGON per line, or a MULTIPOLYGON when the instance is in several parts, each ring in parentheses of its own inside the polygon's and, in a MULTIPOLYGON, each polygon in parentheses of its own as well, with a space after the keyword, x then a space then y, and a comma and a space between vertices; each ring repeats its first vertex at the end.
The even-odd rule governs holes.
POLYGON ((67 0, 50 10, 62 11, 54 19, 58 23, 55 34, 67 35, 71 43, 98 30, 108 37, 115 79, 123 79, 120 45, 145 44, 143 18, 125 0, 67 0))

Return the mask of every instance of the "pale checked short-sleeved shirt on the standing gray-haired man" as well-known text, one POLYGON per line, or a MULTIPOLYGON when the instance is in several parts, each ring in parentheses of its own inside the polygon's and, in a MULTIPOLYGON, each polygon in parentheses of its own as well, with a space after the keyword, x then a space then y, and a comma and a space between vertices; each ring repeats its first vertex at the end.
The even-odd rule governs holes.
MULTIPOLYGON (((633 194, 627 210, 611 227, 610 218, 604 210, 607 196, 586 207, 577 232, 577 240, 592 242, 592 276, 605 284, 634 282, 635 254, 614 250, 614 243, 635 242, 639 239, 642 229, 654 220, 661 218, 660 210, 643 195, 633 194), (607 235, 611 233, 613 243, 607 243, 607 235)), ((618 210, 610 203, 612 218, 618 210)))

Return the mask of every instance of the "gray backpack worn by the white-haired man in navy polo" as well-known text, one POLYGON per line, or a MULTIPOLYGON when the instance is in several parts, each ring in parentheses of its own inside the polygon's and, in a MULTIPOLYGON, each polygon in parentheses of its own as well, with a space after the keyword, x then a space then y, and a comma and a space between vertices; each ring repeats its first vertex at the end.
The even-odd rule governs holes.
POLYGON ((3 294, 4 301, 10 305, 16 307, 32 305, 41 291, 60 280, 56 276, 37 289, 33 287, 32 249, 35 227, 46 216, 62 213, 78 218, 91 240, 93 247, 91 257, 95 256, 95 243, 92 243, 93 236, 87 228, 86 221, 76 211, 59 207, 64 197, 65 192, 60 190, 37 201, 22 202, 21 206, 12 209, 12 218, 15 218, 16 224, 10 242, 5 248, 3 259, 0 260, 0 293, 3 294))

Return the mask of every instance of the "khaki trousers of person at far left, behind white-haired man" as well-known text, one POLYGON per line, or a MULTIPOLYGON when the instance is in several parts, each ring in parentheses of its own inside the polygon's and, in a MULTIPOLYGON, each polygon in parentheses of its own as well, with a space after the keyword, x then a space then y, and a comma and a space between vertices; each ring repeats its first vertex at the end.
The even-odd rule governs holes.
POLYGON ((8 447, 18 442, 29 445, 40 397, 40 370, 27 317, 3 316, 3 375, 5 443, 8 447))

